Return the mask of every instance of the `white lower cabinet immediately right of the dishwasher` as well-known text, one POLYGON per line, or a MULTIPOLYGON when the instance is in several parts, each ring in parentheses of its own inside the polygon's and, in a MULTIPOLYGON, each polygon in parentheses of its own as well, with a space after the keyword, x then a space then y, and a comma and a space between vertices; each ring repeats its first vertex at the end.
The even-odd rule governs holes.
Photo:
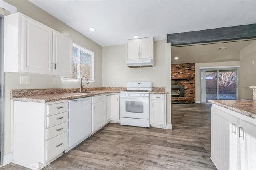
POLYGON ((92 96, 92 132, 106 123, 106 95, 92 96))

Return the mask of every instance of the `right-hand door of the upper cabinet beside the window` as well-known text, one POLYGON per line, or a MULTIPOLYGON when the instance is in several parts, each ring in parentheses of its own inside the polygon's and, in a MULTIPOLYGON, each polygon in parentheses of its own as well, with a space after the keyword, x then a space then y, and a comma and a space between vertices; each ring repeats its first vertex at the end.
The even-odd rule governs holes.
POLYGON ((53 73, 59 76, 72 76, 72 45, 69 37, 53 32, 53 73))

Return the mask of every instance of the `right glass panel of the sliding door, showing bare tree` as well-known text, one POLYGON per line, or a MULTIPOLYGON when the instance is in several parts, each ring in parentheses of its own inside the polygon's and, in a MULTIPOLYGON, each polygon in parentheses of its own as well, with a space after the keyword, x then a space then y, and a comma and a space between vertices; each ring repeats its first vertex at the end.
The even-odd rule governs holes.
POLYGON ((236 100, 236 70, 219 70, 219 100, 236 100))

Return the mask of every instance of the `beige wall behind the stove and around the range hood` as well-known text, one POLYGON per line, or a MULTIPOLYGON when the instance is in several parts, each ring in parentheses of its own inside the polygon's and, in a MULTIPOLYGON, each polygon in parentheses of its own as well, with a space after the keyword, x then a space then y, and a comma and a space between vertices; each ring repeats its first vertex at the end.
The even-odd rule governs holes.
MULTIPOLYGON (((154 67, 128 68, 125 65, 126 45, 103 47, 103 86, 126 87, 127 82, 149 81, 152 82, 153 87, 166 87, 168 86, 166 85, 167 77, 169 77, 168 84, 170 86, 170 68, 168 71, 166 63, 169 64, 168 67, 171 63, 168 59, 170 56, 166 58, 164 40, 154 41, 154 67), (116 84, 114 85, 113 82, 116 84)), ((168 103, 167 109, 170 110, 168 103)), ((170 123, 170 114, 167 114, 167 123, 170 123)))

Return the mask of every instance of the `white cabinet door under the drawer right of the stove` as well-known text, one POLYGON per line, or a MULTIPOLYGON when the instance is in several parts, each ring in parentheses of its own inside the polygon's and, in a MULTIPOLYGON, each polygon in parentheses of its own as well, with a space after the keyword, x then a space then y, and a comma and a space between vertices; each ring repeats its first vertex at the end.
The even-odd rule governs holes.
POLYGON ((166 125, 165 100, 151 100, 150 124, 166 125))

